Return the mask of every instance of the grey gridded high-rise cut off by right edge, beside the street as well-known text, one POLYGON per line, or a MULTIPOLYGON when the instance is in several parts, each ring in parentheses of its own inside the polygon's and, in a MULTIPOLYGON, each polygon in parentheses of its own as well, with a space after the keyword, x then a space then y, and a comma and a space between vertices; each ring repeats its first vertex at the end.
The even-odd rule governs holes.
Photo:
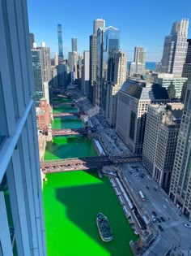
POLYGON ((176 146, 169 195, 182 213, 191 220, 191 78, 185 96, 185 106, 176 146))

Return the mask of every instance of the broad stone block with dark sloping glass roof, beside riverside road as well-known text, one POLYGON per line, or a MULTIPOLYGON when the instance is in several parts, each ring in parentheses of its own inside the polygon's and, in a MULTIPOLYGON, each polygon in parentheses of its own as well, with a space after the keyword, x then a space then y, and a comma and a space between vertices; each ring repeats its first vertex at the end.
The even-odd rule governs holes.
POLYGON ((169 102, 168 92, 145 80, 128 80, 118 92, 116 131, 129 149, 141 154, 146 112, 151 103, 169 102))

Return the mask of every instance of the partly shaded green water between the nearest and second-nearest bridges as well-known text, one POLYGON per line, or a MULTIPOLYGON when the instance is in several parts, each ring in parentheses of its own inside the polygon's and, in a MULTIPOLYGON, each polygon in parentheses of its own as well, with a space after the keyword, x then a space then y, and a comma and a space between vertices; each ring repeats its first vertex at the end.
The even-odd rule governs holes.
POLYGON ((91 140, 83 136, 53 137, 45 150, 45 161, 62 158, 80 158, 96 156, 96 149, 91 140))

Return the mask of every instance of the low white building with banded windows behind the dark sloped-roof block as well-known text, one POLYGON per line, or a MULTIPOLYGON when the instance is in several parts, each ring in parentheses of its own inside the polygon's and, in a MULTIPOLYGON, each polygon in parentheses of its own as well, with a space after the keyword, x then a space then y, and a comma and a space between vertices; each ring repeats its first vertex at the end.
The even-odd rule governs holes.
POLYGON ((155 83, 162 85, 163 88, 167 89, 169 98, 172 99, 180 99, 182 87, 188 79, 186 77, 175 76, 167 73, 152 73, 152 77, 154 78, 155 83))

